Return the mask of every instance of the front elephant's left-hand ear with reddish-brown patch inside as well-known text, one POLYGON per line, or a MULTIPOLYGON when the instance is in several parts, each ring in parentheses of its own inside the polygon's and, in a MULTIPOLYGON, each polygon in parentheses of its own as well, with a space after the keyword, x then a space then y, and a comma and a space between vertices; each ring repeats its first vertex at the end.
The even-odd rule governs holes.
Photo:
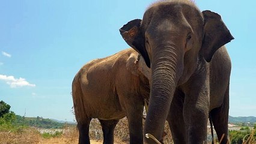
POLYGON ((119 31, 124 38, 124 41, 138 53, 141 53, 145 59, 147 67, 150 68, 150 59, 147 50, 145 49, 145 38, 141 32, 141 21, 141 19, 131 20, 120 28, 119 31))

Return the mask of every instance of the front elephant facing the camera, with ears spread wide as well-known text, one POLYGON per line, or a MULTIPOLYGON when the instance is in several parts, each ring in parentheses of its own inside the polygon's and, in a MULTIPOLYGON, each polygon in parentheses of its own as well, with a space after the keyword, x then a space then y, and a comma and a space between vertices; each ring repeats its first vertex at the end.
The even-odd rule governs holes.
POLYGON ((227 143, 231 62, 224 44, 234 38, 221 16, 192 2, 157 2, 120 33, 151 67, 144 134, 162 141, 167 119, 174 143, 207 143, 210 114, 218 139, 224 134, 227 143))

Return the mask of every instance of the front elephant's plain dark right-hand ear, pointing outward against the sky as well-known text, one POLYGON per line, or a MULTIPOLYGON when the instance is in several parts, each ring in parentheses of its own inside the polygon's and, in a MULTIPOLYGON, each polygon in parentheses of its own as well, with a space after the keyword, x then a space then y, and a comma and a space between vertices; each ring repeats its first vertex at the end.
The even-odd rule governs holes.
POLYGON ((203 11, 202 14, 204 17, 202 50, 204 58, 207 62, 210 62, 216 50, 229 43, 234 37, 230 34, 219 14, 209 10, 203 11))

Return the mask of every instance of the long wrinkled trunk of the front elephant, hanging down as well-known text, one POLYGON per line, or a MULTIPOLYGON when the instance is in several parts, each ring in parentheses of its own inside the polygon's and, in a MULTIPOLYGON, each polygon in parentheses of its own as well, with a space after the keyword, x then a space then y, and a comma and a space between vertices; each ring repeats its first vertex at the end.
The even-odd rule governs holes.
MULTIPOLYGON (((181 57, 178 54, 174 47, 164 47, 163 52, 156 52, 156 55, 152 57, 150 103, 144 133, 152 134, 157 140, 162 140, 169 107, 183 70, 183 67, 181 67, 183 61, 178 59, 181 57)), ((145 142, 156 143, 153 139, 147 138, 145 142)))

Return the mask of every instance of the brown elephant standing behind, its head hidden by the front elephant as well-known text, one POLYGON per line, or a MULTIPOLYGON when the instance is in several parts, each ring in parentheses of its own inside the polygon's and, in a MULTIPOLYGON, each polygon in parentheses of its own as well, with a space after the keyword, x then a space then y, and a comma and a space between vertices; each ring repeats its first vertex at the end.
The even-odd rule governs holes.
POLYGON ((144 59, 132 48, 85 64, 72 83, 79 143, 90 143, 91 118, 98 118, 102 125, 103 143, 114 143, 115 125, 124 116, 130 143, 142 143, 142 112, 150 95, 148 76, 144 59))

